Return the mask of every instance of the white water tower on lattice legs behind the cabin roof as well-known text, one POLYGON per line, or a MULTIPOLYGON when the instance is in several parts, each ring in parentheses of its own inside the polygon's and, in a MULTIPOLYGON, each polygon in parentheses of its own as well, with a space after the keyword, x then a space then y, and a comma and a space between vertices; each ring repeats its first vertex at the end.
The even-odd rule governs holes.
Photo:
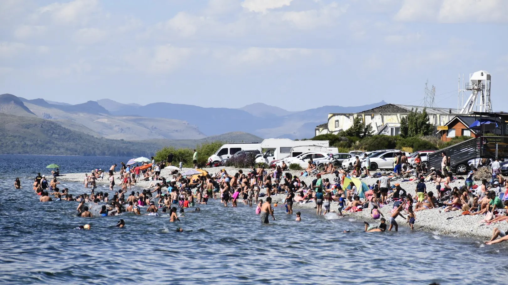
MULTIPOLYGON (((459 79, 460 82, 460 79, 459 79)), ((466 83, 465 90, 471 91, 471 95, 464 103, 460 114, 477 112, 492 112, 490 102, 490 73, 480 70, 469 74, 469 83, 466 83)), ((459 90, 465 91, 465 90, 459 90)))

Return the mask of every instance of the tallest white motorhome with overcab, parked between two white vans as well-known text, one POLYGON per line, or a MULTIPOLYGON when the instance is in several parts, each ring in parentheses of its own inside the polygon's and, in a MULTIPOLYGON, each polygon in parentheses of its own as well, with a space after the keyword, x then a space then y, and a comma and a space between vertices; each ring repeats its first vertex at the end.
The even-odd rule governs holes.
POLYGON ((261 142, 265 149, 263 155, 256 158, 256 163, 270 164, 272 160, 278 160, 291 155, 294 147, 328 147, 328 140, 291 140, 289 138, 267 138, 261 142))

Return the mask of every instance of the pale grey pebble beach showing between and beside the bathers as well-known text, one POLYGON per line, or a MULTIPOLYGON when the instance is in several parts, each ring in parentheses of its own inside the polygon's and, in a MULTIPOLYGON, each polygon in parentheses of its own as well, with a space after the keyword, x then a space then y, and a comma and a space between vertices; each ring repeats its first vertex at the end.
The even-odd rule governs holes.
MULTIPOLYGON (((220 169, 225 168, 226 171, 228 171, 229 174, 234 174, 239 169, 234 167, 212 167, 212 168, 205 168, 210 174, 217 173, 220 171, 220 169)), ((183 171, 192 169, 192 168, 182 168, 183 171)), ((242 169, 244 173, 247 171, 250 171, 251 169, 242 169)), ((290 172, 293 175, 300 174, 301 171, 295 171, 295 170, 289 170, 284 172, 290 172)), ((90 173, 90 172, 88 172, 90 173)), ((65 176, 58 176, 57 179, 59 181, 67 181, 67 182, 80 182, 82 183, 84 180, 84 174, 82 173, 62 173, 62 175, 65 176)), ((105 172, 107 175, 107 172, 105 172)), ((161 175, 165 176, 166 179, 170 176, 169 169, 162 169, 161 175)), ((115 173, 115 181, 118 182, 117 177, 119 176, 119 172, 115 173)), ((334 174, 325 174, 322 175, 323 180, 329 179, 330 181, 333 180, 333 177, 335 177, 334 174)), ((310 185, 312 180, 315 179, 315 176, 307 176, 307 177, 300 177, 301 181, 304 181, 307 185, 310 185)), ((376 182, 377 178, 373 177, 365 177, 364 179, 361 179, 363 182, 365 182, 367 185, 372 185, 376 182)), ((135 186, 133 186, 133 189, 147 189, 150 183, 153 183, 154 181, 142 181, 137 183, 135 186)), ((156 182, 155 182, 156 183, 156 182)), ((407 194, 411 194, 411 196, 415 197, 416 192, 416 182, 410 181, 410 182, 392 182, 392 184, 400 184, 400 186, 406 190, 407 194)), ((104 180, 97 180, 97 185, 108 185, 109 181, 105 178, 104 180)), ((116 184, 115 188, 118 189, 119 182, 116 184)), ((427 191, 434 191, 435 192, 435 185, 434 183, 425 183, 427 186, 427 191)), ((477 184, 480 184, 477 182, 477 184)), ((463 180, 456 180, 450 183, 450 187, 458 187, 464 185, 463 180)), ((165 189, 165 188, 163 188, 165 189)), ((138 190, 134 190, 138 191, 138 190)), ((264 193, 264 190, 262 189, 260 193, 264 193)), ((272 197, 272 205, 277 202, 278 206, 283 206, 283 201, 285 199, 286 194, 274 194, 271 195, 272 197)), ((264 199, 265 197, 260 197, 260 199, 264 199)), ((385 219, 388 222, 388 218, 390 217, 391 213, 390 210, 392 209, 393 202, 391 202, 388 205, 384 205, 379 208, 380 213, 382 213, 385 216, 385 219)), ((315 207, 315 202, 310 201, 308 203, 301 204, 300 202, 294 202, 293 203, 293 212, 295 210, 301 208, 301 209, 313 209, 315 207)), ((338 202, 332 202, 330 205, 330 211, 337 211, 338 209, 338 202)), ((323 209, 324 210, 324 209, 323 209)), ((352 218, 355 220, 358 220, 359 222, 365 221, 368 223, 379 223, 379 220, 373 220, 370 216, 370 210, 368 208, 363 209, 362 211, 358 212, 348 212, 348 211, 342 211, 344 217, 337 216, 337 219, 344 219, 344 218, 352 218)), ((406 217, 406 214, 404 214, 404 211, 401 212, 404 217, 406 217)), ((417 230, 423 230, 433 233, 438 233, 440 235, 447 235, 452 237, 467 237, 467 238, 473 238, 473 239, 480 239, 482 241, 488 240, 492 236, 492 231, 494 228, 500 228, 501 230, 508 230, 508 225, 506 225, 506 222, 499 222, 492 225, 486 225, 484 223, 480 223, 483 219, 483 215, 476 215, 476 216, 470 216, 465 215, 462 216, 462 211, 450 211, 450 212, 444 212, 442 208, 433 208, 433 209, 427 209, 422 211, 416 211, 416 222, 415 222, 415 231, 417 230)), ((397 223, 400 227, 409 227, 409 224, 406 224, 406 221, 403 220, 401 217, 398 217, 396 219, 397 223)), ((392 229, 394 231, 394 229, 392 229)))

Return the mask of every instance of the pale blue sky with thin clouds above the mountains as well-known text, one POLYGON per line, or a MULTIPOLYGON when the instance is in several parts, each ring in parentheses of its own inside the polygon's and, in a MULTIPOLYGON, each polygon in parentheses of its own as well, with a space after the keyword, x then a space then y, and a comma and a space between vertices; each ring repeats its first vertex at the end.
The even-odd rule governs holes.
POLYGON ((0 93, 289 111, 385 100, 457 108, 492 75, 508 111, 505 0, 0 1, 0 93))

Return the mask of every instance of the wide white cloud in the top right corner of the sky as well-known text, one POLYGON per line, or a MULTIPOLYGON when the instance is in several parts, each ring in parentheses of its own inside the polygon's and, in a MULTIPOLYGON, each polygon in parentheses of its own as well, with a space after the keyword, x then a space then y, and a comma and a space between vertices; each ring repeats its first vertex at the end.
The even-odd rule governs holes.
POLYGON ((506 22, 506 14, 506 0, 404 0, 395 20, 440 23, 506 22))

